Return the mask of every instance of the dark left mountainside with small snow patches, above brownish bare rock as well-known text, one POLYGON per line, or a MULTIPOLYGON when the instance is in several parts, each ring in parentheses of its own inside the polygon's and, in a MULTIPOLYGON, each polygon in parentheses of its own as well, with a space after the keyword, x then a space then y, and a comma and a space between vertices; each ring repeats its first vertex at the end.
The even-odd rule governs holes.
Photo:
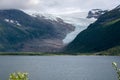
MULTIPOLYGON (((64 22, 38 19, 15 9, 0 10, 0 51, 26 51, 25 45, 29 41, 38 39, 40 42, 43 39, 56 38, 62 40, 72 30, 74 27, 64 22)), ((33 44, 35 47, 29 47, 36 48, 44 43, 33 44)), ((36 51, 40 51, 40 48, 36 51)))

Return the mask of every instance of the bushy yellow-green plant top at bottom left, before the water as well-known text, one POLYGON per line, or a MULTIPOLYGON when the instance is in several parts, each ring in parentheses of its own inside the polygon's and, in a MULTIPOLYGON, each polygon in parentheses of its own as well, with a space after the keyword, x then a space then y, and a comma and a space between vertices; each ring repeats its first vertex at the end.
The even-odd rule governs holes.
POLYGON ((28 80, 28 73, 12 73, 10 74, 9 80, 28 80))

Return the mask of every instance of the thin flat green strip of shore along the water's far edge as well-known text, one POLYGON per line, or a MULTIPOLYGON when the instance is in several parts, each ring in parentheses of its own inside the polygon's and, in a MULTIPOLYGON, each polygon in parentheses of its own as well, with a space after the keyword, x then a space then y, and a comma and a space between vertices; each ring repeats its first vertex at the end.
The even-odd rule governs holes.
POLYGON ((0 56, 120 56, 98 53, 0 52, 0 56))

